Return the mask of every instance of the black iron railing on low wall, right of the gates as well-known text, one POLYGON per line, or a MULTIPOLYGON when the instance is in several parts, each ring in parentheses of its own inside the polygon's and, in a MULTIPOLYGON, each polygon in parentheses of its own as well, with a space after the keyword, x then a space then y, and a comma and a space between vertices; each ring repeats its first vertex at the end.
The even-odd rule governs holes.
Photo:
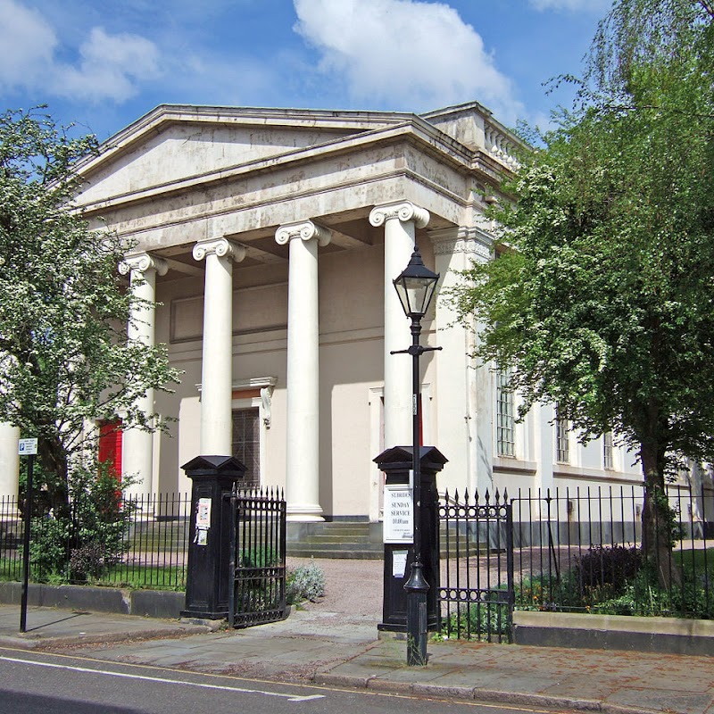
POLYGON ((648 548, 643 486, 520 493, 512 499, 516 607, 714 618, 714 492, 669 485, 648 548))

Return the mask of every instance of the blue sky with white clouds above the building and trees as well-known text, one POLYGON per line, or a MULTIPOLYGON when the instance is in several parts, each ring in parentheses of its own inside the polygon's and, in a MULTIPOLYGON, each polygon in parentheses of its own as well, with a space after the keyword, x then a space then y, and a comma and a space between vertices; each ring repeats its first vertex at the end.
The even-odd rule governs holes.
POLYGON ((426 112, 541 126, 610 0, 0 0, 0 110, 100 139, 157 104, 426 112))

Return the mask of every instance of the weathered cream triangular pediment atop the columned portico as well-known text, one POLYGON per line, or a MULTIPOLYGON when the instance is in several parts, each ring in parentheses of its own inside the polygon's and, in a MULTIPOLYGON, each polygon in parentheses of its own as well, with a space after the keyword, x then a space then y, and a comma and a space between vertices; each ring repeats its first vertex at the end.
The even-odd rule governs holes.
POLYGON ((403 123, 399 112, 320 112, 239 107, 157 107, 83 162, 79 203, 167 187, 403 123))

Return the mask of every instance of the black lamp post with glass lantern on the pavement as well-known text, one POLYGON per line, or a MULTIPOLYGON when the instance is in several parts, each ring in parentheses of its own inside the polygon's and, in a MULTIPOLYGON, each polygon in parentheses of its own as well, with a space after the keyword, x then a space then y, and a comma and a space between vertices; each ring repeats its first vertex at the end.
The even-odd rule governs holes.
POLYGON ((402 303, 404 314, 411 319, 411 347, 392 354, 411 354, 411 415, 414 476, 413 518, 414 518, 414 560, 411 564, 409 580, 404 583, 407 593, 407 664, 427 664, 427 593, 429 584, 424 577, 421 554, 421 444, 419 426, 421 423, 421 400, 419 399, 419 356, 425 352, 440 350, 441 347, 419 345, 421 319, 427 313, 429 303, 436 290, 439 276, 428 270, 421 260, 418 248, 414 248, 411 260, 403 273, 394 278, 394 287, 402 303))

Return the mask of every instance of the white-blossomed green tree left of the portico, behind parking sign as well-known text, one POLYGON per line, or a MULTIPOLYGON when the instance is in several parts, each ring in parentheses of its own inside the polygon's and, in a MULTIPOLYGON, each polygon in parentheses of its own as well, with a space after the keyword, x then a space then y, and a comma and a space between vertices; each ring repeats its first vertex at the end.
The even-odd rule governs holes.
POLYGON ((131 245, 72 207, 73 165, 97 145, 70 130, 37 110, 0 116, 0 420, 37 436, 57 514, 92 425, 121 413, 127 428, 154 428, 137 398, 178 378, 165 347, 127 339, 136 298, 117 267, 131 245))

